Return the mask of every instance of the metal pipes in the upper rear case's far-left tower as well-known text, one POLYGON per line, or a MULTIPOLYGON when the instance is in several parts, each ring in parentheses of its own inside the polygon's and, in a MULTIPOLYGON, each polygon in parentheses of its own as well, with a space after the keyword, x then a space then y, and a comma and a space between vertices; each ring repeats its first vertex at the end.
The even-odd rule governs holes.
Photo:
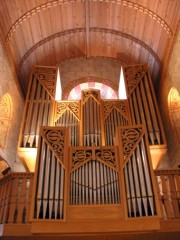
POLYGON ((53 100, 35 76, 29 92, 23 130, 23 146, 37 147, 40 126, 50 125, 53 100))

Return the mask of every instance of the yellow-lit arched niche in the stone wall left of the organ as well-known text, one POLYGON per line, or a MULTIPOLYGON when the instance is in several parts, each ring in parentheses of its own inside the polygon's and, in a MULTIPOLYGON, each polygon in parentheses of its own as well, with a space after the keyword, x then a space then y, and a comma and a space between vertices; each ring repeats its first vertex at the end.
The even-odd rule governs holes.
POLYGON ((0 97, 0 148, 6 146, 8 129, 12 115, 12 101, 8 93, 0 97))

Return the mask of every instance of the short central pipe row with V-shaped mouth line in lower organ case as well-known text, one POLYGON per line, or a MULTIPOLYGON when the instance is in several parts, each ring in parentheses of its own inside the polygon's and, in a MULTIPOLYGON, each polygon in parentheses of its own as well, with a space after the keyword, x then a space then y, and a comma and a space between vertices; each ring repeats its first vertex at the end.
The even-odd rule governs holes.
POLYGON ((90 160, 70 174, 71 205, 118 204, 118 173, 98 160, 90 160))

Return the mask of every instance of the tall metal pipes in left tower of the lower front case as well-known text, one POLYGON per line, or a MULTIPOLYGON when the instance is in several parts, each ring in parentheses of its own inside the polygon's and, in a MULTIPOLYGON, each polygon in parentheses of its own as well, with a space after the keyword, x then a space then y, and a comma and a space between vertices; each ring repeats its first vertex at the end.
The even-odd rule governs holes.
POLYGON ((35 218, 63 219, 65 170, 46 141, 41 141, 35 218))

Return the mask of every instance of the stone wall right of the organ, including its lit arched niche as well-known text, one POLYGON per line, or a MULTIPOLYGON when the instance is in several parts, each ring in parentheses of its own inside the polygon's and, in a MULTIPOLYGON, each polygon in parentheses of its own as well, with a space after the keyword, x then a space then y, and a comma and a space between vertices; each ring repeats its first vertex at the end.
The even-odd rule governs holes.
POLYGON ((168 71, 159 89, 160 110, 165 129, 170 167, 180 164, 180 31, 177 34, 168 71))

